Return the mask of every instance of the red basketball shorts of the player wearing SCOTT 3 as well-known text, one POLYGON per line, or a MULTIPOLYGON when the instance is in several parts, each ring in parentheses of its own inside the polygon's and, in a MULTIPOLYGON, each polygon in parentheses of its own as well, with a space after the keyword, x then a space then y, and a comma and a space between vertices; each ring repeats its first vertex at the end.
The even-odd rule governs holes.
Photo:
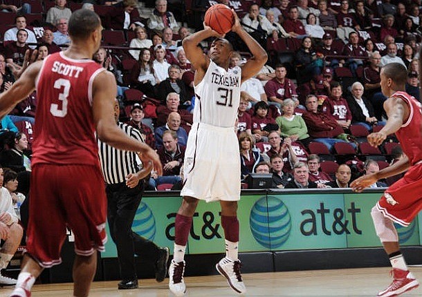
POLYGON ((62 262, 66 227, 75 253, 90 256, 107 241, 107 198, 99 166, 36 164, 30 178, 27 251, 42 267, 62 262))

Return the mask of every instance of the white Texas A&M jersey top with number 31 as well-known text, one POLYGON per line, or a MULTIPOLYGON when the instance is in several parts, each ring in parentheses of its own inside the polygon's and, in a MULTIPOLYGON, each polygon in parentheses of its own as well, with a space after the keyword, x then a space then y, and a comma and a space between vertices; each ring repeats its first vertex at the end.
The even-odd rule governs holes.
POLYGON ((210 61, 202 81, 194 86, 194 123, 234 127, 240 102, 241 68, 226 69, 210 61))

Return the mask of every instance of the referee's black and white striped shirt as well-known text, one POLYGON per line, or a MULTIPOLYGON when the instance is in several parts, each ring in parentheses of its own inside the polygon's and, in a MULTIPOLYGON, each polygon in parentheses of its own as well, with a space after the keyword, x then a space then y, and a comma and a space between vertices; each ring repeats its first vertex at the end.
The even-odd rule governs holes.
MULTIPOLYGON (((127 124, 118 122, 118 126, 130 137, 144 142, 140 131, 127 124)), ((136 153, 113 148, 98 140, 98 155, 104 180, 107 184, 126 182, 129 173, 136 173, 142 169, 142 163, 136 153)))

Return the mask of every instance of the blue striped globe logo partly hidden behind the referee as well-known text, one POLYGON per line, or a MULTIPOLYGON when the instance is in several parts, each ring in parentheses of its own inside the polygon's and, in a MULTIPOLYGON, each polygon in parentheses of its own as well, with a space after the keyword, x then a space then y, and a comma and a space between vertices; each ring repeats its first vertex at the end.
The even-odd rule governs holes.
POLYGON ((156 220, 151 209, 144 202, 140 202, 132 224, 132 230, 147 240, 154 240, 156 236, 156 220))

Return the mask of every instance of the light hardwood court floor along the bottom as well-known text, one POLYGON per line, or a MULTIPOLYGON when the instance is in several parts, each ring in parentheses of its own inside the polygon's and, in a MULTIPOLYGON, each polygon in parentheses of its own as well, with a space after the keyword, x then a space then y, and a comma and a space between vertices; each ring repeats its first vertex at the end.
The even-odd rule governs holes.
MULTIPOLYGON (((365 269, 338 269, 315 271, 270 272, 244 274, 248 288, 246 296, 376 296, 378 290, 389 285, 389 267, 365 269)), ((422 280, 422 267, 410 268, 422 280)), ((167 297, 173 296, 167 289, 167 281, 142 280, 140 289, 118 290, 117 281, 94 282, 92 297, 167 297)), ((236 296, 226 286, 221 276, 199 276, 185 278, 186 296, 226 297, 236 296)), ((12 289, 0 289, 0 297, 6 297, 12 289)), ((72 296, 72 284, 35 285, 33 297, 72 296)), ((422 296, 421 287, 405 296, 422 296)))

